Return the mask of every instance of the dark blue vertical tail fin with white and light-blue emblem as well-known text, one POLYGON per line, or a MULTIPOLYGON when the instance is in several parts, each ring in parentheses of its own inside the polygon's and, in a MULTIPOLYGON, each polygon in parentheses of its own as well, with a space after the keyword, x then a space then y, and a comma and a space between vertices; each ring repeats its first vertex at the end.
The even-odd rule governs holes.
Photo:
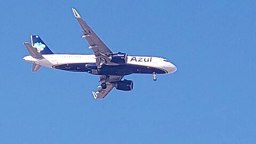
POLYGON ((38 35, 31 35, 31 45, 41 54, 53 54, 38 35))

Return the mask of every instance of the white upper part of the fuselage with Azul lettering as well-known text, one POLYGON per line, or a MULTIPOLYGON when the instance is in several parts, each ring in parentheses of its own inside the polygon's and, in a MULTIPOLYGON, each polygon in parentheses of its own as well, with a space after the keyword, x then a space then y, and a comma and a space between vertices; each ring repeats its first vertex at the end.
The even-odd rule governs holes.
MULTIPOLYGON (((28 55, 23 60, 55 68, 55 66, 70 63, 95 63, 97 58, 94 54, 43 54, 43 57, 45 59, 37 60, 28 55)), ((173 63, 159 57, 127 56, 127 64, 161 69, 166 74, 174 73, 177 70, 173 63)))

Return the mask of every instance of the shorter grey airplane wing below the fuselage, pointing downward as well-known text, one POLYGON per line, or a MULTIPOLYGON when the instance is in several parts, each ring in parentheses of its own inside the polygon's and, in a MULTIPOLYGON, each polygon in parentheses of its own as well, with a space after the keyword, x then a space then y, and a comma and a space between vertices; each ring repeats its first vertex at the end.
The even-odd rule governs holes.
POLYGON ((102 89, 102 87, 99 85, 98 91, 94 92, 92 91, 92 95, 94 99, 103 99, 107 96, 107 94, 115 87, 113 82, 120 81, 123 78, 123 76, 100 76, 100 83, 106 83, 107 88, 102 89))

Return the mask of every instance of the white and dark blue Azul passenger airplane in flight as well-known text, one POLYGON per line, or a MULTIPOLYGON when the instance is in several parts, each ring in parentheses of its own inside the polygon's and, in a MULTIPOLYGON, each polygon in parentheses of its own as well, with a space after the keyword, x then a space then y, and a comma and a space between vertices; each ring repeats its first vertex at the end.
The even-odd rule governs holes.
POLYGON ((98 91, 92 91, 94 99, 103 99, 114 89, 131 91, 133 81, 123 79, 130 74, 152 74, 153 81, 157 74, 170 74, 177 67, 162 57, 132 56, 127 53, 112 52, 101 41, 79 13, 72 8, 75 18, 82 28, 82 38, 86 39, 94 54, 54 54, 38 35, 31 35, 31 44, 24 42, 30 55, 23 60, 32 63, 32 71, 37 72, 42 66, 98 75, 100 85, 98 91))

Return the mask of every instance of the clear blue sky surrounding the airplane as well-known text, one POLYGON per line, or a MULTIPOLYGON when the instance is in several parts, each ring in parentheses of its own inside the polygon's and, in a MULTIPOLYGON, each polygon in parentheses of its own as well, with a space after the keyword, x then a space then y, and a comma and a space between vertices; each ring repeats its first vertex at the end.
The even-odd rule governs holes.
POLYGON ((0 143, 255 143, 255 1, 0 1, 0 143), (31 34, 92 53, 75 7, 111 50, 158 55, 171 75, 130 75, 94 100, 98 76, 22 60, 31 34))

